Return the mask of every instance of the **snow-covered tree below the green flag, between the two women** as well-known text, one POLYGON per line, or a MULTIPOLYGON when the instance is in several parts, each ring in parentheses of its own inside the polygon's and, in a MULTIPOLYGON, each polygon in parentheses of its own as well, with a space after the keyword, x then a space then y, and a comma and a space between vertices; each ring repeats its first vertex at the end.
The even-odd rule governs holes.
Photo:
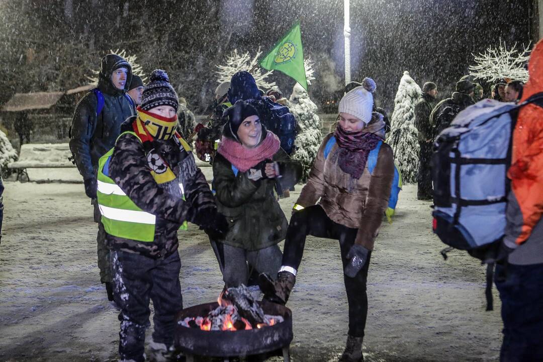
MULTIPOLYGON (((315 79, 313 76, 313 62, 310 58, 304 60, 307 85, 315 79)), ((311 167, 320 143, 323 141, 323 134, 320 131, 320 119, 317 116, 317 105, 309 98, 309 94, 298 82, 294 85, 288 107, 300 126, 300 133, 296 136, 296 152, 293 157, 301 162, 304 167, 302 182, 307 181, 311 167)))

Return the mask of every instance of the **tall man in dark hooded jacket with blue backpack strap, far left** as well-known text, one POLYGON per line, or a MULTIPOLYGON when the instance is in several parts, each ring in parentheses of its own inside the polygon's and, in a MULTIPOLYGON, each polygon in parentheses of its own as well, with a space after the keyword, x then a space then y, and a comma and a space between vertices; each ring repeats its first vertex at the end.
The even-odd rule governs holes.
POLYGON ((130 63, 116 54, 102 58, 98 87, 85 94, 75 106, 70 130, 70 150, 79 173, 83 176, 85 194, 94 205, 94 221, 98 223, 98 268, 105 283, 108 299, 113 300, 109 250, 105 246, 104 225, 96 203, 98 160, 115 145, 121 124, 136 110, 126 94, 132 80, 130 63), (101 110, 98 109, 101 107, 101 110))

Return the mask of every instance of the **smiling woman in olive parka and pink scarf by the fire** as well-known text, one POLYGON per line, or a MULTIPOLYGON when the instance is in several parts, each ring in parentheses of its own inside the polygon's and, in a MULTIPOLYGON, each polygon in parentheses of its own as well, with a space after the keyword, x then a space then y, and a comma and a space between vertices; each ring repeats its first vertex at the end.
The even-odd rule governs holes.
POLYGON ((279 138, 264 128, 257 110, 238 100, 225 111, 228 122, 213 162, 217 208, 229 231, 215 239, 226 287, 247 284, 250 271, 275 274, 282 253, 287 219, 276 188, 289 189, 300 180, 301 164, 280 147, 279 138))

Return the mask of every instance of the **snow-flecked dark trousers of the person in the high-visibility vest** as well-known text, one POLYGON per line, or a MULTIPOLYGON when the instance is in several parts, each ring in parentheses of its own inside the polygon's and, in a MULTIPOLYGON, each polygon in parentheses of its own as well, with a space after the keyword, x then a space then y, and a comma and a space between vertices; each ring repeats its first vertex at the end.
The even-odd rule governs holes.
POLYGON ((153 300, 153 341, 173 344, 175 314, 183 309, 179 253, 164 259, 111 251, 113 296, 121 308, 119 355, 121 359, 144 361, 145 331, 149 327, 149 299, 153 300))

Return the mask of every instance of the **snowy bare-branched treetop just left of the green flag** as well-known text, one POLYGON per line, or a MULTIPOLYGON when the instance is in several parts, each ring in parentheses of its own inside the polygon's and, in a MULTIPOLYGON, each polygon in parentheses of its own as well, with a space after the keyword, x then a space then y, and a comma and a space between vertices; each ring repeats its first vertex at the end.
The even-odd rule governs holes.
POLYGON ((253 69, 251 74, 252 77, 255 78, 258 88, 268 90, 269 88, 275 86, 275 82, 269 82, 267 80, 267 78, 273 74, 273 71, 263 73, 262 68, 256 66, 261 55, 262 50, 260 50, 260 47, 258 47, 256 55, 253 58, 251 58, 249 52, 239 54, 237 49, 234 49, 233 52, 226 57, 225 65, 217 65, 217 68, 219 69, 215 72, 218 75, 217 82, 219 82, 219 84, 222 82, 229 82, 232 75, 236 74, 237 72, 249 72, 251 69, 253 69))

